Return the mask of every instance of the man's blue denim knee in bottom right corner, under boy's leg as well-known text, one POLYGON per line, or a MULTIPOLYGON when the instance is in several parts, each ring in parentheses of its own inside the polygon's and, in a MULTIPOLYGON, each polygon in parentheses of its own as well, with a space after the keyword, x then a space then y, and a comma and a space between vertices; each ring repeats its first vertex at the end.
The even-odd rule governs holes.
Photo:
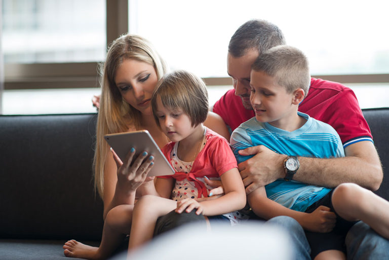
POLYGON ((362 221, 348 231, 345 242, 348 260, 389 259, 389 240, 362 221))

